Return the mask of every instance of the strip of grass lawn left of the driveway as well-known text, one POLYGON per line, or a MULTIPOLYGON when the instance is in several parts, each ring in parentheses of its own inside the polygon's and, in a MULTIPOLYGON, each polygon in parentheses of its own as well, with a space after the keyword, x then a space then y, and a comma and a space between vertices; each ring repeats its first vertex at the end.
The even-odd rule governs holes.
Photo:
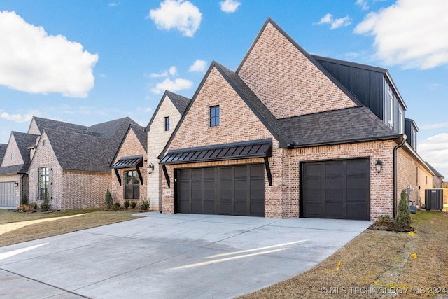
POLYGON ((54 211, 48 214, 33 214, 0 209, 0 246, 127 221, 137 218, 137 216, 132 216, 134 213, 135 211, 114 212, 102 211, 101 209, 78 209, 54 211), (57 217, 66 216, 71 217, 57 219, 57 217), (27 223, 19 223, 20 221, 45 222, 27 225, 27 223), (11 228, 13 225, 18 225, 18 228, 11 228))

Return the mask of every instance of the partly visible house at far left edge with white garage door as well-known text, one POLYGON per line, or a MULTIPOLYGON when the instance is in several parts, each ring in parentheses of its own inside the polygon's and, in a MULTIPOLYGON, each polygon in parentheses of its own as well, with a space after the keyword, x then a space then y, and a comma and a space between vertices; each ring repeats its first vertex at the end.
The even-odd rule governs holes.
POLYGON ((20 198, 28 196, 29 147, 38 135, 11 132, 8 144, 0 145, 0 207, 16 208, 20 198))

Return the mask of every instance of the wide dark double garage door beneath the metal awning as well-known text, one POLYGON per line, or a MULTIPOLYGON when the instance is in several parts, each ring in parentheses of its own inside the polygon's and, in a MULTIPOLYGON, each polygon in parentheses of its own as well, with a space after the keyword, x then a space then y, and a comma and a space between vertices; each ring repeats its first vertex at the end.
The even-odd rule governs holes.
POLYGON ((265 215, 264 165, 176 170, 176 213, 265 215))

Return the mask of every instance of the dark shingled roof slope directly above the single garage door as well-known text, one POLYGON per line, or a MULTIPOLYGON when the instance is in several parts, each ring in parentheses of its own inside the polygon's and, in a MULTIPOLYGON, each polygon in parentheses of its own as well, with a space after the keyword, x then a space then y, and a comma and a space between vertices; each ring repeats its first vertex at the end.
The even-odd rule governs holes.
POLYGON ((294 148, 394 139, 402 136, 389 129, 367 107, 283 118, 280 122, 294 148))

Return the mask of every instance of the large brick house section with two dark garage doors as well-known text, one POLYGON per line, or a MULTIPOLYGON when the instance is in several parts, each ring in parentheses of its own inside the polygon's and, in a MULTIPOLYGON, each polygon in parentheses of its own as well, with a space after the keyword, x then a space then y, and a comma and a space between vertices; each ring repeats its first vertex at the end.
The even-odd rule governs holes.
POLYGON ((432 186, 406 108, 386 69, 309 55, 267 19, 236 72, 211 63, 161 151, 162 211, 393 216, 402 188, 432 186))

